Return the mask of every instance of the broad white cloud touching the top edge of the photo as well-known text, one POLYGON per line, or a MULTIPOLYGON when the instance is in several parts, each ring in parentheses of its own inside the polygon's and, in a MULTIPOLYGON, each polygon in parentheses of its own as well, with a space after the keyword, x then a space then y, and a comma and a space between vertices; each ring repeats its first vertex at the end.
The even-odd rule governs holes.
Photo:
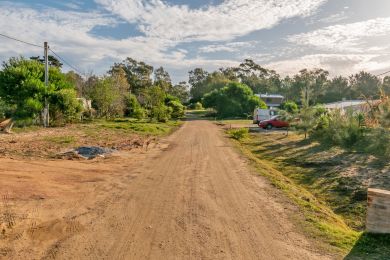
POLYGON ((190 9, 162 0, 95 0, 146 36, 173 41, 231 40, 271 28, 281 20, 307 16, 327 0, 225 0, 216 6, 190 9))

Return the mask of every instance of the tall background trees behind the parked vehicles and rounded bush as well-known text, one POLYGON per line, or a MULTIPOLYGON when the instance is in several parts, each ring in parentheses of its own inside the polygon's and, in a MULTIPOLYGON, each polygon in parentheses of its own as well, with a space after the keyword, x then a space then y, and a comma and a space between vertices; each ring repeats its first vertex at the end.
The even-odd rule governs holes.
POLYGON ((301 92, 310 93, 310 104, 324 104, 345 99, 379 98, 380 93, 390 93, 390 77, 383 80, 368 73, 359 72, 349 77, 330 77, 323 69, 303 69, 293 76, 280 76, 275 70, 266 69, 251 59, 237 67, 220 68, 207 72, 196 68, 189 72, 192 102, 201 101, 205 94, 225 87, 229 82, 240 82, 254 93, 278 93, 287 101, 301 103, 301 92))

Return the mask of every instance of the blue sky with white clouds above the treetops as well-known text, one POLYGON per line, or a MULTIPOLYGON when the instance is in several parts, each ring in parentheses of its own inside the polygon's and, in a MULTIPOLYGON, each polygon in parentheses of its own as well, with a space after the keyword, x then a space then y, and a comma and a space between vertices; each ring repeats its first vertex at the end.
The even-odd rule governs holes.
MULTIPOLYGON (((0 33, 47 41, 86 74, 131 57, 163 66, 174 82, 247 58, 282 76, 346 76, 390 70, 389 10, 389 0, 0 0, 0 33)), ((42 54, 0 37, 0 61, 42 54)))

